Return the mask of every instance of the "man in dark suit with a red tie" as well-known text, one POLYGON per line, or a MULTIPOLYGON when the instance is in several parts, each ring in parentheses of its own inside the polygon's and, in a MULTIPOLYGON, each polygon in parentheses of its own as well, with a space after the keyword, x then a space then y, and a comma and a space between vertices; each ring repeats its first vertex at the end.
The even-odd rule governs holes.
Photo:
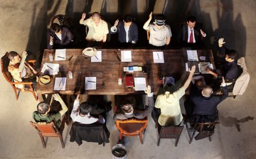
POLYGON ((182 26, 178 31, 177 41, 184 47, 191 45, 203 44, 203 38, 206 37, 206 33, 202 31, 201 26, 197 25, 196 17, 189 16, 186 24, 182 26))

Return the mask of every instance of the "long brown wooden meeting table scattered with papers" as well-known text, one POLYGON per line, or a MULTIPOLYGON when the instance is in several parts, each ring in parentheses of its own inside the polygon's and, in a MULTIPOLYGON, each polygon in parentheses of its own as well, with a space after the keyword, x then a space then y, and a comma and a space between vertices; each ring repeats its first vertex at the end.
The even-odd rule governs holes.
MULTIPOLYGON (((67 49, 66 60, 55 61, 51 63, 60 64, 60 72, 53 76, 53 82, 47 86, 38 84, 37 94, 129 94, 134 90, 127 89, 124 85, 117 84, 118 77, 122 75, 124 66, 146 66, 147 83, 153 87, 156 93, 157 77, 159 73, 164 76, 172 76, 179 79, 185 69, 185 62, 188 60, 186 50, 132 50, 132 62, 119 62, 114 55, 114 51, 121 58, 121 50, 101 49, 102 62, 91 62, 90 58, 82 56, 82 49, 67 49), (153 51, 164 52, 164 63, 154 63, 153 51), (73 55, 71 60, 68 60, 73 55), (68 70, 72 70, 73 79, 68 78, 68 70), (97 89, 85 91, 85 77, 97 77, 97 89), (66 87, 64 91, 54 91, 54 77, 67 77, 66 87), (102 83, 105 85, 102 85, 102 83)), ((198 57, 206 56, 206 61, 210 61, 214 65, 213 53, 211 50, 197 50, 198 57)), ((44 50, 42 66, 45 62, 50 62, 48 54, 54 53, 55 50, 44 50)), ((41 73, 42 74, 42 73, 41 73)), ((140 76, 140 75, 139 75, 140 76)), ((139 93, 139 92, 136 92, 139 93)))

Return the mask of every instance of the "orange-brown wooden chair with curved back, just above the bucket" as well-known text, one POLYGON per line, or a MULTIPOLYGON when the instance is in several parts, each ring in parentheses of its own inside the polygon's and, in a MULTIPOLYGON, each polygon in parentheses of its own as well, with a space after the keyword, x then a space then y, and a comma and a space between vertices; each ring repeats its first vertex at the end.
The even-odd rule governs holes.
POLYGON ((119 140, 122 140, 122 136, 139 136, 139 140, 143 144, 142 133, 145 133, 148 119, 126 119, 115 122, 119 130, 119 140))

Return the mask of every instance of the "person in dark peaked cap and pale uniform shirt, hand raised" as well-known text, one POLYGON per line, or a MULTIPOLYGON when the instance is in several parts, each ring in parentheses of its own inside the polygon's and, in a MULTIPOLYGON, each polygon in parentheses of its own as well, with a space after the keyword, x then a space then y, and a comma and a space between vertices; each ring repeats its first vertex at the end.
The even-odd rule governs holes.
POLYGON ((149 20, 144 23, 144 30, 149 30, 149 44, 154 46, 164 46, 169 45, 171 42, 171 28, 164 25, 166 18, 164 15, 159 14, 155 16, 155 21, 153 24, 149 24, 152 19, 152 12, 149 14, 149 20))

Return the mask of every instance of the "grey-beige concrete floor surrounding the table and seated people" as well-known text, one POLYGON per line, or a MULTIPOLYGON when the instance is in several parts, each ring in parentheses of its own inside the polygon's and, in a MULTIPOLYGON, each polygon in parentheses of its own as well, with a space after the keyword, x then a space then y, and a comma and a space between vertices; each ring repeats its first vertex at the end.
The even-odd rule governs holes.
MULTIPOLYGON (((153 10, 154 13, 164 13, 169 17, 173 33, 178 21, 193 14, 204 23, 208 47, 211 36, 224 37, 228 48, 234 48, 240 56, 245 56, 251 78, 249 87, 242 96, 225 99, 218 106, 220 124, 215 129, 212 142, 203 139, 189 144, 184 129, 178 147, 174 146, 174 140, 171 139, 162 140, 158 147, 154 122, 149 117, 143 145, 137 137, 126 139, 127 158, 256 158, 256 124, 253 119, 256 116, 253 72, 256 68, 255 8, 256 2, 252 0, 171 0, 166 3, 161 0, 0 0, 0 56, 11 50, 18 53, 30 50, 36 55, 43 53, 50 18, 58 13, 73 17, 74 27, 79 28, 82 11, 99 11, 110 23, 120 13, 123 16, 132 12, 139 17, 137 22, 141 25, 153 10)), ((112 158, 111 148, 117 143, 119 134, 111 120, 112 113, 107 123, 111 133, 110 143, 105 147, 97 143, 84 142, 81 146, 70 143, 69 127, 66 126, 63 133, 65 149, 61 148, 58 138, 48 138, 47 148, 44 149, 38 134, 29 125, 38 102, 31 94, 23 92, 16 101, 13 89, 2 75, 0 81, 0 158, 112 158)))

